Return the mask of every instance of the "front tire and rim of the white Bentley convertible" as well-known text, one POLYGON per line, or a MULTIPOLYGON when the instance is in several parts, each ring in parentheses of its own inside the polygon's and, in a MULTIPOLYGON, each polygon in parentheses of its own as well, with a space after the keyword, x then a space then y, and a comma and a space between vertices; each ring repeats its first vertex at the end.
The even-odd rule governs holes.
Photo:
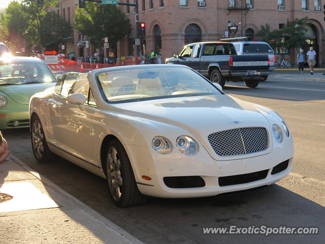
POLYGON ((116 206, 131 207, 145 202, 146 198, 138 189, 126 151, 117 139, 108 143, 105 170, 109 195, 116 206))

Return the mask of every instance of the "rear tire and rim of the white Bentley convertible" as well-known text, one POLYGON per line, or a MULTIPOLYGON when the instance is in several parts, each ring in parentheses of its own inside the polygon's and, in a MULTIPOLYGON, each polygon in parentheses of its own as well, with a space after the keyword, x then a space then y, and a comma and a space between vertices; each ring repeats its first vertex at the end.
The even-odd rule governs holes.
POLYGON ((44 164, 57 160, 58 156, 53 154, 47 145, 43 126, 37 115, 33 116, 30 121, 30 139, 32 152, 37 162, 44 164))

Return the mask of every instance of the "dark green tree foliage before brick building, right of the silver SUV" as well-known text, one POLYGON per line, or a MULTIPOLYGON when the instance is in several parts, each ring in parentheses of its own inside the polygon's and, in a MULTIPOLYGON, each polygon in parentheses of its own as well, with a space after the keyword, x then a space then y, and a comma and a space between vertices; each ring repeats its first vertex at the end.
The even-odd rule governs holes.
POLYGON ((283 53, 284 50, 301 47, 305 43, 305 33, 307 32, 307 17, 295 19, 284 24, 282 29, 271 31, 270 25, 261 25, 259 36, 261 40, 271 45, 274 50, 283 53))

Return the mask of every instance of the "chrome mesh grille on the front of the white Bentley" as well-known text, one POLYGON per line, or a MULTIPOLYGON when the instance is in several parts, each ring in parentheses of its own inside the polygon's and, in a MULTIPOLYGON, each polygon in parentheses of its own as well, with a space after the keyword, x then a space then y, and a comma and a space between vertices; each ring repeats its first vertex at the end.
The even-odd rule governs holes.
POLYGON ((220 131, 208 136, 219 156, 235 156, 257 153, 268 148, 268 131, 264 127, 245 127, 220 131))

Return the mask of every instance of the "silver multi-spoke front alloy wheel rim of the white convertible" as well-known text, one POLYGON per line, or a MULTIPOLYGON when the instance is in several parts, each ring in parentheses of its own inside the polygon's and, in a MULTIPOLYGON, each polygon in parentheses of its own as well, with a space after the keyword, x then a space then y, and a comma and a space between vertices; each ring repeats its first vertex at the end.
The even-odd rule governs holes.
POLYGON ((110 147, 107 157, 107 180, 115 201, 122 195, 121 161, 115 147, 110 147))

